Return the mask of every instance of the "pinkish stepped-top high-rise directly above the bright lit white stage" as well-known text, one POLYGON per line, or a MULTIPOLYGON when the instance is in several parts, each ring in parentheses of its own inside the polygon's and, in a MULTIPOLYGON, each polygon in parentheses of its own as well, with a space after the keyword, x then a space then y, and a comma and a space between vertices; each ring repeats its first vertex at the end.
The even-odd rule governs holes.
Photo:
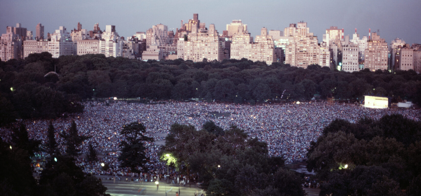
POLYGON ((367 49, 365 49, 364 67, 371 71, 388 70, 388 47, 387 42, 380 38, 376 32, 372 33, 368 40, 367 49))

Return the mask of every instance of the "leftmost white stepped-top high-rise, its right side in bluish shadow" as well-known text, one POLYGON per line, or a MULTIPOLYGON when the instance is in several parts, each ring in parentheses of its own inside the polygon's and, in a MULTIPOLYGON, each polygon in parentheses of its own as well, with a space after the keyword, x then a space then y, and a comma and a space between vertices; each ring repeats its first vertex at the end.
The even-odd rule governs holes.
POLYGON ((53 58, 59 58, 63 55, 75 55, 75 48, 72 42, 72 36, 67 32, 66 27, 59 27, 53 35, 51 41, 48 41, 48 52, 53 58))

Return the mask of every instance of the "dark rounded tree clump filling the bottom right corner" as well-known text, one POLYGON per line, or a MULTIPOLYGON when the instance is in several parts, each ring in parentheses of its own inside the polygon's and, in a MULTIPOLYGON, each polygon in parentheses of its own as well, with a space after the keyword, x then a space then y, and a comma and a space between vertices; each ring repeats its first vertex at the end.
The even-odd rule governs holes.
POLYGON ((402 115, 332 121, 307 154, 320 195, 419 194, 420 127, 402 115))

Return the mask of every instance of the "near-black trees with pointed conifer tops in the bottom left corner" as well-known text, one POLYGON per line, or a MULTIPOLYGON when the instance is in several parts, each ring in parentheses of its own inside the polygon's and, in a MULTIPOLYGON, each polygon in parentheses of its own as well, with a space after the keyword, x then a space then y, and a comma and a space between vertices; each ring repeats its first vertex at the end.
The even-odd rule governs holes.
MULTIPOLYGON (((50 122, 47 140, 31 139, 25 124, 11 129, 11 140, 0 137, 0 191, 4 196, 109 196, 107 188, 97 177, 83 173, 75 164, 75 157, 80 155, 80 145, 89 136, 78 133, 75 121, 70 128, 60 132, 64 140, 64 153, 58 149, 55 129, 50 122), (45 152, 43 170, 39 178, 34 178, 36 162, 32 161, 35 153, 45 152)), ((96 151, 96 150, 93 150, 96 151)), ((88 153, 88 159, 96 155, 88 153)))

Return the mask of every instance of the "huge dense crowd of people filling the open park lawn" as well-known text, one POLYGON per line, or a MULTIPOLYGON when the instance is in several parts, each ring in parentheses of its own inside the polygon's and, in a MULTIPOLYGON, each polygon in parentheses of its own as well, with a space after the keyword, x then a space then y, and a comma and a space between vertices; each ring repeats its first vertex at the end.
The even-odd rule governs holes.
MULTIPOLYGON (((129 168, 122 168, 117 161, 120 154, 120 142, 124 139, 119 134, 122 126, 131 122, 141 122, 147 129, 147 136, 155 141, 165 140, 172 124, 191 124, 201 129, 206 121, 214 121, 223 129, 232 124, 244 129, 250 137, 257 137, 268 145, 270 156, 283 156, 286 163, 305 159, 311 141, 316 141, 323 128, 335 118, 356 122, 366 116, 374 119, 386 114, 398 113, 419 121, 420 111, 415 109, 371 109, 354 104, 327 104, 326 102, 305 102, 287 104, 239 105, 207 102, 161 102, 161 104, 127 103, 124 101, 104 104, 104 102, 85 102, 84 113, 69 118, 52 120, 56 130, 56 141, 64 150, 63 138, 59 132, 66 132, 72 120, 75 120, 80 134, 92 136, 80 147, 88 150, 92 144, 99 152, 99 161, 88 162, 84 156, 76 163, 84 172, 95 175, 124 175, 144 178, 160 177, 167 173, 167 166, 160 161, 157 153, 160 146, 147 142, 147 168, 142 174, 131 173, 129 168), (104 171, 101 163, 107 163, 104 171)), ((29 136, 44 143, 47 141, 47 129, 50 120, 23 121, 29 136)), ((1 128, 1 136, 7 141, 10 129, 1 128)), ((41 153, 38 156, 48 156, 41 153)), ((176 171, 170 175, 175 179, 176 171)))

